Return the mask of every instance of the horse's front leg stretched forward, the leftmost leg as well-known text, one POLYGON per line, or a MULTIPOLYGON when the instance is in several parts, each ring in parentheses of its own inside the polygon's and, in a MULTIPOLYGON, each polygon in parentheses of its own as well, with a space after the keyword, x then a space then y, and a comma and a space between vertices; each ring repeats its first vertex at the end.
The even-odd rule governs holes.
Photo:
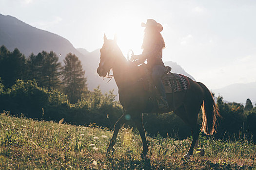
POLYGON ((116 122, 115 126, 114 126, 114 133, 113 133, 113 136, 112 138, 110 139, 110 142, 109 142, 109 146, 108 146, 108 149, 107 149, 107 155, 110 154, 110 155, 113 155, 113 153, 115 152, 115 149, 114 149, 114 145, 116 143, 116 140, 117 140, 117 136, 118 136, 118 131, 119 129, 122 127, 122 125, 125 123, 125 117, 124 117, 125 114, 123 114, 119 119, 118 121, 116 122))

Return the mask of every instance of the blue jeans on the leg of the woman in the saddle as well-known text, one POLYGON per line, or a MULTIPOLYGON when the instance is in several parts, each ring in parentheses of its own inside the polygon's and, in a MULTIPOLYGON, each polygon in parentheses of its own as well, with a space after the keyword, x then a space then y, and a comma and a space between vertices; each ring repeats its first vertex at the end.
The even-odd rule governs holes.
POLYGON ((163 83, 161 81, 161 76, 164 74, 165 68, 161 65, 155 65, 152 68, 152 78, 160 93, 160 95, 166 100, 166 94, 164 90, 163 83))

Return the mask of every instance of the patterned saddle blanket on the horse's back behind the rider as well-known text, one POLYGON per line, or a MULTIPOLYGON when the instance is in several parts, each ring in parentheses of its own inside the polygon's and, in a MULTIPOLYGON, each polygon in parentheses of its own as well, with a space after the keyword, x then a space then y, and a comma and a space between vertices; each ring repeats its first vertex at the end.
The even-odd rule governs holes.
POLYGON ((161 79, 165 93, 177 93, 190 89, 188 78, 182 74, 167 73, 161 79))

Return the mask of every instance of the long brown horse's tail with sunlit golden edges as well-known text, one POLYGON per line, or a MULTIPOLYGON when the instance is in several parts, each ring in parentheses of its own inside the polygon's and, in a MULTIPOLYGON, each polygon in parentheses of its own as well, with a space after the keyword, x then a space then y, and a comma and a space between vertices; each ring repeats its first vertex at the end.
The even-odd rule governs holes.
POLYGON ((204 90, 204 100, 202 104, 202 127, 201 132, 206 135, 213 135, 217 131, 217 117, 221 117, 218 107, 214 101, 212 93, 202 83, 197 82, 204 90))

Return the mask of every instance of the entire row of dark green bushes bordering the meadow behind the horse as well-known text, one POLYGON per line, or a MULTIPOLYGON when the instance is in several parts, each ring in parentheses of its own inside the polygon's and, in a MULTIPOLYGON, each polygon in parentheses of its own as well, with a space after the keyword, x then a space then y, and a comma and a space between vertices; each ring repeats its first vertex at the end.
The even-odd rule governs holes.
MULTIPOLYGON (((17 80, 15 85, 7 89, 0 81, 1 111, 10 111, 18 116, 23 114, 34 119, 59 121, 64 118, 65 122, 77 125, 96 123, 98 126, 113 128, 123 114, 122 106, 115 101, 115 97, 113 90, 102 94, 98 86, 84 98, 71 104, 67 95, 39 87, 35 80, 17 80)), ((250 138, 250 134, 256 134, 256 107, 244 111, 242 104, 224 103, 222 97, 218 97, 217 105, 223 117, 218 119, 217 138, 241 135, 250 138)), ((201 112, 199 124, 200 121, 201 112)), ((160 134, 163 137, 184 139, 191 135, 190 127, 173 113, 144 114, 143 122, 149 136, 160 134)), ((132 121, 126 123, 125 127, 128 126, 135 127, 132 121)))

